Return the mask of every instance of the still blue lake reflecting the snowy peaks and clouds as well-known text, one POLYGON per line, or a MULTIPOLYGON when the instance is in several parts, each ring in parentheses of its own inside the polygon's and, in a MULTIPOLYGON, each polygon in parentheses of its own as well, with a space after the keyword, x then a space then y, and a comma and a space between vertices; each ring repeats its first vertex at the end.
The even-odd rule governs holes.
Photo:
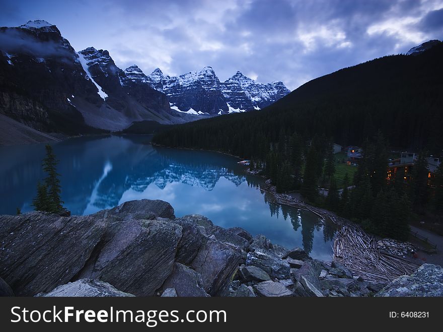
MULTIPOLYGON (((123 202, 169 202, 175 215, 201 214, 216 225, 264 234, 287 248, 303 247, 331 260, 335 228, 316 215, 279 206, 245 175, 238 159, 207 151, 158 148, 150 136, 69 139, 53 145, 60 160, 62 200, 73 215, 88 215, 123 202)), ((41 170, 43 144, 0 147, 0 214, 29 212, 41 170)), ((1 227, 1 226, 0 226, 1 227)))

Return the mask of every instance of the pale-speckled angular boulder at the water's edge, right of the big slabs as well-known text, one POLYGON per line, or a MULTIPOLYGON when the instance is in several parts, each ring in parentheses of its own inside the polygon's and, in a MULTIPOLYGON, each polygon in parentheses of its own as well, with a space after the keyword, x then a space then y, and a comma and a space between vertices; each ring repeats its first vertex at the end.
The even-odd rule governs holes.
POLYGON ((286 260, 270 255, 260 249, 248 252, 246 264, 264 270, 271 278, 288 279, 290 277, 290 267, 286 260))

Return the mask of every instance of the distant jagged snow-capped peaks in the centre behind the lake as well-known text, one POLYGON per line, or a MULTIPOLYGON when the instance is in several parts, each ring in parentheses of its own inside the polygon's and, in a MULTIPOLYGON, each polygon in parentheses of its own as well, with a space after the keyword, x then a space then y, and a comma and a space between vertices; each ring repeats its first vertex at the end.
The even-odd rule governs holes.
POLYGON ((290 91, 282 82, 256 83, 237 72, 225 82, 220 82, 211 67, 180 76, 165 76, 157 68, 145 76, 136 66, 128 68, 136 82, 147 82, 168 95, 171 108, 188 114, 211 116, 245 112, 266 107, 290 91))

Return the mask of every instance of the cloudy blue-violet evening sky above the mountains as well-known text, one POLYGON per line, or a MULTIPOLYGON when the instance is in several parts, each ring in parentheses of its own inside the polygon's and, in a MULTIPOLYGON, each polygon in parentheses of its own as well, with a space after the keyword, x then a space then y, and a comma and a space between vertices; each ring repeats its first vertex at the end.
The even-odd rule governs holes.
POLYGON ((443 0, 2 0, 0 26, 55 24, 76 50, 179 75, 210 65, 290 89, 443 39, 443 0))

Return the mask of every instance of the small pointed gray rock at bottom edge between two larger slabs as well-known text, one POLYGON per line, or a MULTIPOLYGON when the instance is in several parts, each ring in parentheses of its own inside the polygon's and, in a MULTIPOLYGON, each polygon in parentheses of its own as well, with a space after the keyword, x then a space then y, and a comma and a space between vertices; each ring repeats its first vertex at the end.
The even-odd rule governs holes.
POLYGON ((163 288, 174 288, 177 296, 207 297, 203 289, 203 281, 200 274, 185 267, 180 263, 174 263, 171 275, 166 279, 163 288))

